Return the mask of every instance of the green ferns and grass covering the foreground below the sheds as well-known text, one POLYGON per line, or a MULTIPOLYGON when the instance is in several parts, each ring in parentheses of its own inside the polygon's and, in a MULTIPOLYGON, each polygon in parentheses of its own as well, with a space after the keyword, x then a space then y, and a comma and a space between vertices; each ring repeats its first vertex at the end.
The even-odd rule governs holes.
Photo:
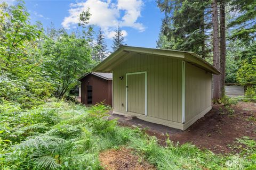
MULTIPOLYGON (((0 108, 0 168, 102 169, 99 153, 121 146, 133 148, 157 169, 250 169, 256 164, 255 149, 221 156, 189 143, 167 140, 160 146, 145 131, 108 120, 108 110, 103 104, 85 107, 51 99, 23 111, 5 101, 0 108)), ((250 139, 241 141, 255 146, 250 139)))

